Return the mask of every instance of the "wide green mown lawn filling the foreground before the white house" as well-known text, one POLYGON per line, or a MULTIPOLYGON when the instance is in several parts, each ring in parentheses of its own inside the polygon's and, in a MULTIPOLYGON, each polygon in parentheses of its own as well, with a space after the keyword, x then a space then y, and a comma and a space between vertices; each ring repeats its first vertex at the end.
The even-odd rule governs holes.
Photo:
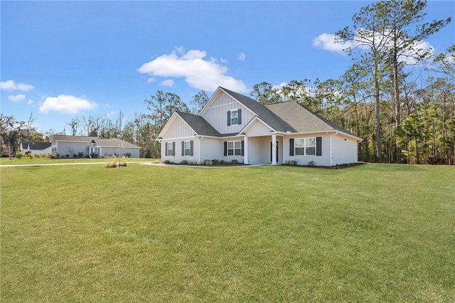
POLYGON ((4 167, 0 300, 455 302, 454 176, 4 167))

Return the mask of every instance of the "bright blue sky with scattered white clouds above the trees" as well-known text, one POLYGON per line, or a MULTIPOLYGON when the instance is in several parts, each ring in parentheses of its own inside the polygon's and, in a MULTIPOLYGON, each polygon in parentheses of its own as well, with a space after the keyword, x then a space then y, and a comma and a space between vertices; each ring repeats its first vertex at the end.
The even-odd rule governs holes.
MULTIPOLYGON (((333 33, 368 1, 1 1, 1 112, 41 132, 82 116, 148 113, 157 90, 184 102, 218 86, 249 95, 267 81, 337 79, 350 58, 333 33)), ((425 46, 455 44, 453 19, 425 46)))

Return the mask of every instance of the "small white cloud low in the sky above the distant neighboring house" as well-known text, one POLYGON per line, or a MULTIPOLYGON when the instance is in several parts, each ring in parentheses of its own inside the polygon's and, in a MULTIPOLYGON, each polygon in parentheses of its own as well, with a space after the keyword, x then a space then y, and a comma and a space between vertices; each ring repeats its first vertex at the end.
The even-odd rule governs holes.
POLYGON ((97 103, 90 100, 71 95, 58 95, 57 97, 45 98, 40 112, 60 112, 62 114, 75 115, 81 110, 93 110, 97 108, 97 103))

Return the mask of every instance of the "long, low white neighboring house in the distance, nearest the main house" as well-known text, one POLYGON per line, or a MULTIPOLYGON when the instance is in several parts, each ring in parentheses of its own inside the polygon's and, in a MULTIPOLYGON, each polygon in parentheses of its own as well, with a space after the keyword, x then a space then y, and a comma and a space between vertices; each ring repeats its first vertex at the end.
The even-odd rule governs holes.
POLYGON ((139 148, 134 144, 119 139, 101 139, 99 137, 67 136, 54 134, 51 138, 52 155, 66 156, 71 158, 75 154, 82 156, 111 156, 117 154, 123 156, 129 154, 133 158, 139 158, 139 148))

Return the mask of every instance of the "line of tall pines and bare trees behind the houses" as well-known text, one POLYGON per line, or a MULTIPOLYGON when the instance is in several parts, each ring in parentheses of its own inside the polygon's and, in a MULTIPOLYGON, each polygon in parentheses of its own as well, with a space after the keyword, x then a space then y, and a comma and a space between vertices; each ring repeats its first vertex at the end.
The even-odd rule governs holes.
MULTIPOLYGON (((353 15, 352 26, 336 33, 336 42, 353 60, 338 79, 291 80, 282 87, 264 81, 252 87, 250 97, 263 105, 294 101, 335 122, 363 139, 358 145, 359 161, 453 165, 455 45, 431 62, 432 50, 422 47, 451 19, 423 23, 426 6, 421 0, 365 6, 353 15)), ((144 100, 146 113, 137 112, 128 120, 122 112, 114 119, 73 118, 68 122, 69 134, 121 137, 141 147, 141 156, 159 158, 156 137, 172 113, 198 113, 208 99, 203 90, 188 103, 159 90, 144 100)), ((1 116, 4 142, 31 139, 36 133, 32 116, 16 124, 11 119, 1 116), (9 137, 5 129, 15 127, 21 131, 9 137)))

